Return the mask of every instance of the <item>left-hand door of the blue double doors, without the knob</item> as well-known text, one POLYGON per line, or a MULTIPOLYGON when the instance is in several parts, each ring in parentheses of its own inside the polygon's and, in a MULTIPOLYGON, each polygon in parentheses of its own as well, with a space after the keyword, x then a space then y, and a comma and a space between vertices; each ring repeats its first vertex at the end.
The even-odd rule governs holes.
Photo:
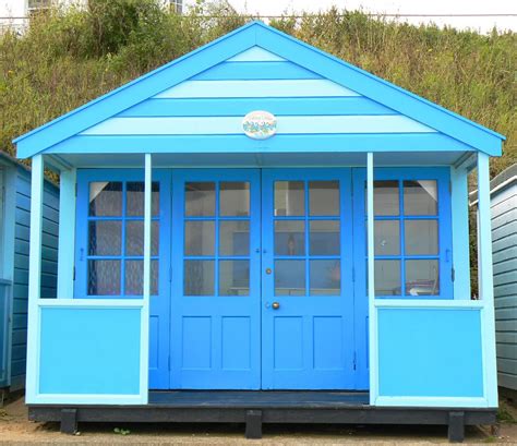
POLYGON ((260 176, 173 172, 171 388, 258 389, 260 176))

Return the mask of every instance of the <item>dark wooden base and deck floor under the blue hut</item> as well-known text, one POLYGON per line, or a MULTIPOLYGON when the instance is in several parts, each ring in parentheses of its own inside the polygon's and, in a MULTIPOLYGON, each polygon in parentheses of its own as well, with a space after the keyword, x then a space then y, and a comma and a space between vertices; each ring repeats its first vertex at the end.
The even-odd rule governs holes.
POLYGON ((244 423, 247 438, 261 438, 264 423, 434 424, 462 442, 466 425, 494 424, 495 409, 385 408, 368 393, 152 391, 146 406, 32 405, 32 421, 56 421, 73 434, 83 422, 244 423))

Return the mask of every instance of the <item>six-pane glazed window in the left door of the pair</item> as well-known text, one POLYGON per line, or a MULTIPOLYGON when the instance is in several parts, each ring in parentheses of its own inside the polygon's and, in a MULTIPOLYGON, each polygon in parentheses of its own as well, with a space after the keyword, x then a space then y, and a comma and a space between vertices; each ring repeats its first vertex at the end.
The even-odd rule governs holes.
POLYGON ((184 184, 185 296, 250 296, 250 183, 184 184))

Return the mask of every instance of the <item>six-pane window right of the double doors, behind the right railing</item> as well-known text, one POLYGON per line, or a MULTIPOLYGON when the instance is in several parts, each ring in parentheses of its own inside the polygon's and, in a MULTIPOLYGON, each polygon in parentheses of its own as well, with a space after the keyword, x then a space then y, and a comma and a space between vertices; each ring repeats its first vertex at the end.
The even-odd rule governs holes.
POLYGON ((448 239, 441 240, 443 186, 437 179, 407 176, 374 182, 376 297, 441 294, 441 269, 449 261, 442 255, 449 253, 448 239))

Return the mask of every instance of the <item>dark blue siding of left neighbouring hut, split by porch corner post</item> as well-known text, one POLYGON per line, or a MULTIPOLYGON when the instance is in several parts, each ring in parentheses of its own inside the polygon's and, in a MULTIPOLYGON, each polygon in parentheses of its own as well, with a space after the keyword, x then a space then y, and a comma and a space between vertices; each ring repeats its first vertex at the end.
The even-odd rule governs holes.
MULTIPOLYGON (((17 168, 15 177, 15 238, 12 287, 11 389, 25 381, 28 296, 28 242, 31 222, 31 173, 17 168)), ((58 268, 59 192, 45 184, 41 297, 56 298, 58 268)))

